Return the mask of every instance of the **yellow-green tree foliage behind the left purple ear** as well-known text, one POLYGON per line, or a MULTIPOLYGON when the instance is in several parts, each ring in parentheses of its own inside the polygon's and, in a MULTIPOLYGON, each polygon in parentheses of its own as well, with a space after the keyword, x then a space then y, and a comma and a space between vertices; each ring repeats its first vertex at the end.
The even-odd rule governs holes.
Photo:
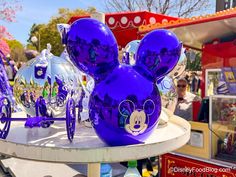
POLYGON ((57 24, 67 23, 72 16, 79 15, 88 15, 95 12, 95 8, 88 8, 87 10, 76 9, 69 10, 67 8, 61 8, 58 10, 58 14, 54 17, 51 17, 50 21, 47 24, 34 24, 31 27, 28 43, 35 46, 38 50, 46 48, 47 43, 52 45, 52 53, 54 55, 60 55, 64 47, 61 44, 61 37, 57 31, 57 24), (36 36, 38 42, 33 43, 31 38, 36 36))

